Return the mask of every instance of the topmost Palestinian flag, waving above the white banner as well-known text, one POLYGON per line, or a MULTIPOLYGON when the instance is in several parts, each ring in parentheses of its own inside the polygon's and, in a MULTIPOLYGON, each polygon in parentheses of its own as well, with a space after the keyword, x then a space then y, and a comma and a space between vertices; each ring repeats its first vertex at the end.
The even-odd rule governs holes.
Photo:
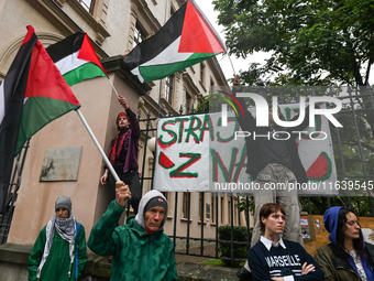
POLYGON ((141 82, 162 79, 173 73, 226 53, 224 43, 194 0, 188 0, 152 37, 125 57, 141 82))

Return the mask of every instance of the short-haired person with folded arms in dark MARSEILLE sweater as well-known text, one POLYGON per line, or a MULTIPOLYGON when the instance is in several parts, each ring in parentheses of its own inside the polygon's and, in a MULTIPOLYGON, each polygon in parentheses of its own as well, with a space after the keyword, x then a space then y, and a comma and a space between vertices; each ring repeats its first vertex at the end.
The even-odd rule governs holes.
POLYGON ((254 281, 323 280, 323 271, 301 245, 280 238, 286 212, 279 204, 264 204, 258 219, 264 236, 248 253, 254 281))

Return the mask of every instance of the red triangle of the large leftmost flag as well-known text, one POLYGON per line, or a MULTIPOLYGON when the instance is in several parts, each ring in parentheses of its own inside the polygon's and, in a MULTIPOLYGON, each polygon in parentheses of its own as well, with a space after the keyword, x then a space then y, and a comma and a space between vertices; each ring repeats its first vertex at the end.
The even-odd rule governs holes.
POLYGON ((40 41, 32 51, 24 97, 47 97, 79 106, 79 101, 40 41))

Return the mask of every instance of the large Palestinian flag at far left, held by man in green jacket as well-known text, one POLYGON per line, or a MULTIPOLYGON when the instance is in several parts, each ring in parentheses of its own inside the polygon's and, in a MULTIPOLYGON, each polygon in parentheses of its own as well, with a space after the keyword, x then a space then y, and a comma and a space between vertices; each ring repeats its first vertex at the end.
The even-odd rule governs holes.
POLYGON ((0 86, 0 214, 14 155, 52 120, 79 107, 32 26, 0 86))

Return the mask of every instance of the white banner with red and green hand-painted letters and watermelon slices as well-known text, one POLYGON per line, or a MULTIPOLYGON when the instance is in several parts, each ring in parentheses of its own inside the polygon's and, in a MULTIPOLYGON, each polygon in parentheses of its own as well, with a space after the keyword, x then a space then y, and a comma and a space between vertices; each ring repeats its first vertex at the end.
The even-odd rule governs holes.
MULTIPOLYGON (((298 114, 298 104, 280 105, 289 120, 298 114)), ((254 108, 250 108, 255 115, 254 108)), ((301 194, 337 194, 332 141, 328 120, 317 116, 315 128, 297 133, 298 151, 309 183, 299 186, 301 194)), ((233 111, 222 127, 221 112, 161 119, 157 123, 154 188, 163 192, 239 192, 252 193, 252 180, 245 173, 246 148, 233 111), (238 187, 241 186, 242 190, 238 187)), ((253 138, 250 136, 248 138, 253 138)), ((253 187, 253 186, 252 186, 253 187)))

